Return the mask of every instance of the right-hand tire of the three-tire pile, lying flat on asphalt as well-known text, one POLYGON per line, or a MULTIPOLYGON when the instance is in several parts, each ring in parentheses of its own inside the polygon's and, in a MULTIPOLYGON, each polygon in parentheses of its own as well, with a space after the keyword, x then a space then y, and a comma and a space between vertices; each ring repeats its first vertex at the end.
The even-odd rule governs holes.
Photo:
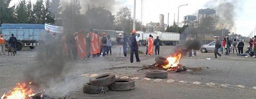
POLYGON ((109 90, 113 91, 128 91, 133 90, 135 82, 131 79, 118 78, 114 83, 109 85, 109 90))

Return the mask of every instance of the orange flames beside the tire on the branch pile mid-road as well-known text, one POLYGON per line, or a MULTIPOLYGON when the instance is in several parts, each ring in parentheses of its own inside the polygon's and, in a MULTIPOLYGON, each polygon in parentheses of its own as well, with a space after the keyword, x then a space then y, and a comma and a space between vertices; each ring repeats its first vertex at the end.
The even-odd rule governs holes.
POLYGON ((171 55, 170 57, 167 58, 167 61, 169 62, 169 64, 167 64, 166 66, 162 66, 163 68, 166 68, 167 71, 175 71, 176 68, 179 68, 179 60, 181 58, 181 53, 177 52, 173 55, 171 55))

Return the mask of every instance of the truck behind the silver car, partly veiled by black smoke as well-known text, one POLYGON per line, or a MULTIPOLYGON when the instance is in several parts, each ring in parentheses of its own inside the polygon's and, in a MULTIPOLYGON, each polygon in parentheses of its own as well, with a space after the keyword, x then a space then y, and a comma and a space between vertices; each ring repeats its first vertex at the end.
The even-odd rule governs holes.
POLYGON ((209 44, 210 42, 214 41, 214 35, 213 34, 189 34, 186 37, 187 40, 199 40, 202 45, 209 44))

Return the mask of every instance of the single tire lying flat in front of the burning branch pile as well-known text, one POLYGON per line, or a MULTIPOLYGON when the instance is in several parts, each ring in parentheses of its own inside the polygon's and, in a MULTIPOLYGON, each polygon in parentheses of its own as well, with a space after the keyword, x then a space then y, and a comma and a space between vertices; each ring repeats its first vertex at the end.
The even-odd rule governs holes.
POLYGON ((168 72, 164 70, 149 70, 146 71, 147 78, 167 78, 168 72))

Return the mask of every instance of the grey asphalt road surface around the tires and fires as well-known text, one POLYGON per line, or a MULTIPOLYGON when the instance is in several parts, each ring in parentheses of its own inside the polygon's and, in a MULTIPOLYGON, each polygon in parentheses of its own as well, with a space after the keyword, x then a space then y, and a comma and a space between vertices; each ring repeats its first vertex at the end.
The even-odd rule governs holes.
MULTIPOLYGON (((160 56, 167 57, 175 46, 161 46, 160 56)), ((65 99, 255 99, 256 91, 256 58, 242 57, 230 54, 213 59, 210 53, 197 52, 195 57, 183 56, 180 64, 186 67, 202 67, 200 71, 185 71, 168 73, 168 78, 160 82, 151 79, 144 81, 145 71, 137 71, 143 65, 154 64, 154 55, 140 54, 141 62, 129 62, 129 57, 116 57, 113 54, 106 57, 84 60, 65 59, 60 68, 52 68, 59 61, 38 58, 40 50, 24 48, 16 56, 0 56, 0 95, 8 92, 17 82, 23 82, 32 76, 35 81, 44 80, 36 86, 36 92, 45 92, 51 97, 65 99), (211 58, 211 60, 206 60, 211 58), (50 61, 50 62, 49 62, 50 61), (43 64, 43 65, 40 65, 43 64), (209 67, 209 68, 205 68, 209 67), (40 69, 39 69, 40 68, 40 69), (54 70, 54 71, 53 71, 54 70), (56 71, 55 71, 56 70, 56 71), (57 71, 58 70, 58 71, 57 71), (48 73, 50 71, 50 73, 48 73), (43 73, 49 75, 42 75, 43 73), (52 73, 53 72, 53 73, 52 73), (59 74, 59 76, 51 74, 59 74), (91 96, 82 91, 83 84, 88 82, 91 74, 114 73, 115 75, 138 77, 135 80, 135 90, 126 92, 109 91, 107 94, 91 96), (42 78, 41 78, 42 77, 42 78), (167 80, 174 80, 172 83, 167 80), (181 83, 180 81, 186 82, 181 83), (201 82, 195 85, 193 82, 201 82), (207 83, 215 83, 213 86, 207 83), (227 85, 227 86, 223 86, 227 85), (239 88, 237 85, 244 85, 239 88), (43 91, 45 89, 45 91, 43 91)), ((140 47, 144 51, 145 47, 140 47)), ((57 65, 56 65, 57 66, 57 65)))

